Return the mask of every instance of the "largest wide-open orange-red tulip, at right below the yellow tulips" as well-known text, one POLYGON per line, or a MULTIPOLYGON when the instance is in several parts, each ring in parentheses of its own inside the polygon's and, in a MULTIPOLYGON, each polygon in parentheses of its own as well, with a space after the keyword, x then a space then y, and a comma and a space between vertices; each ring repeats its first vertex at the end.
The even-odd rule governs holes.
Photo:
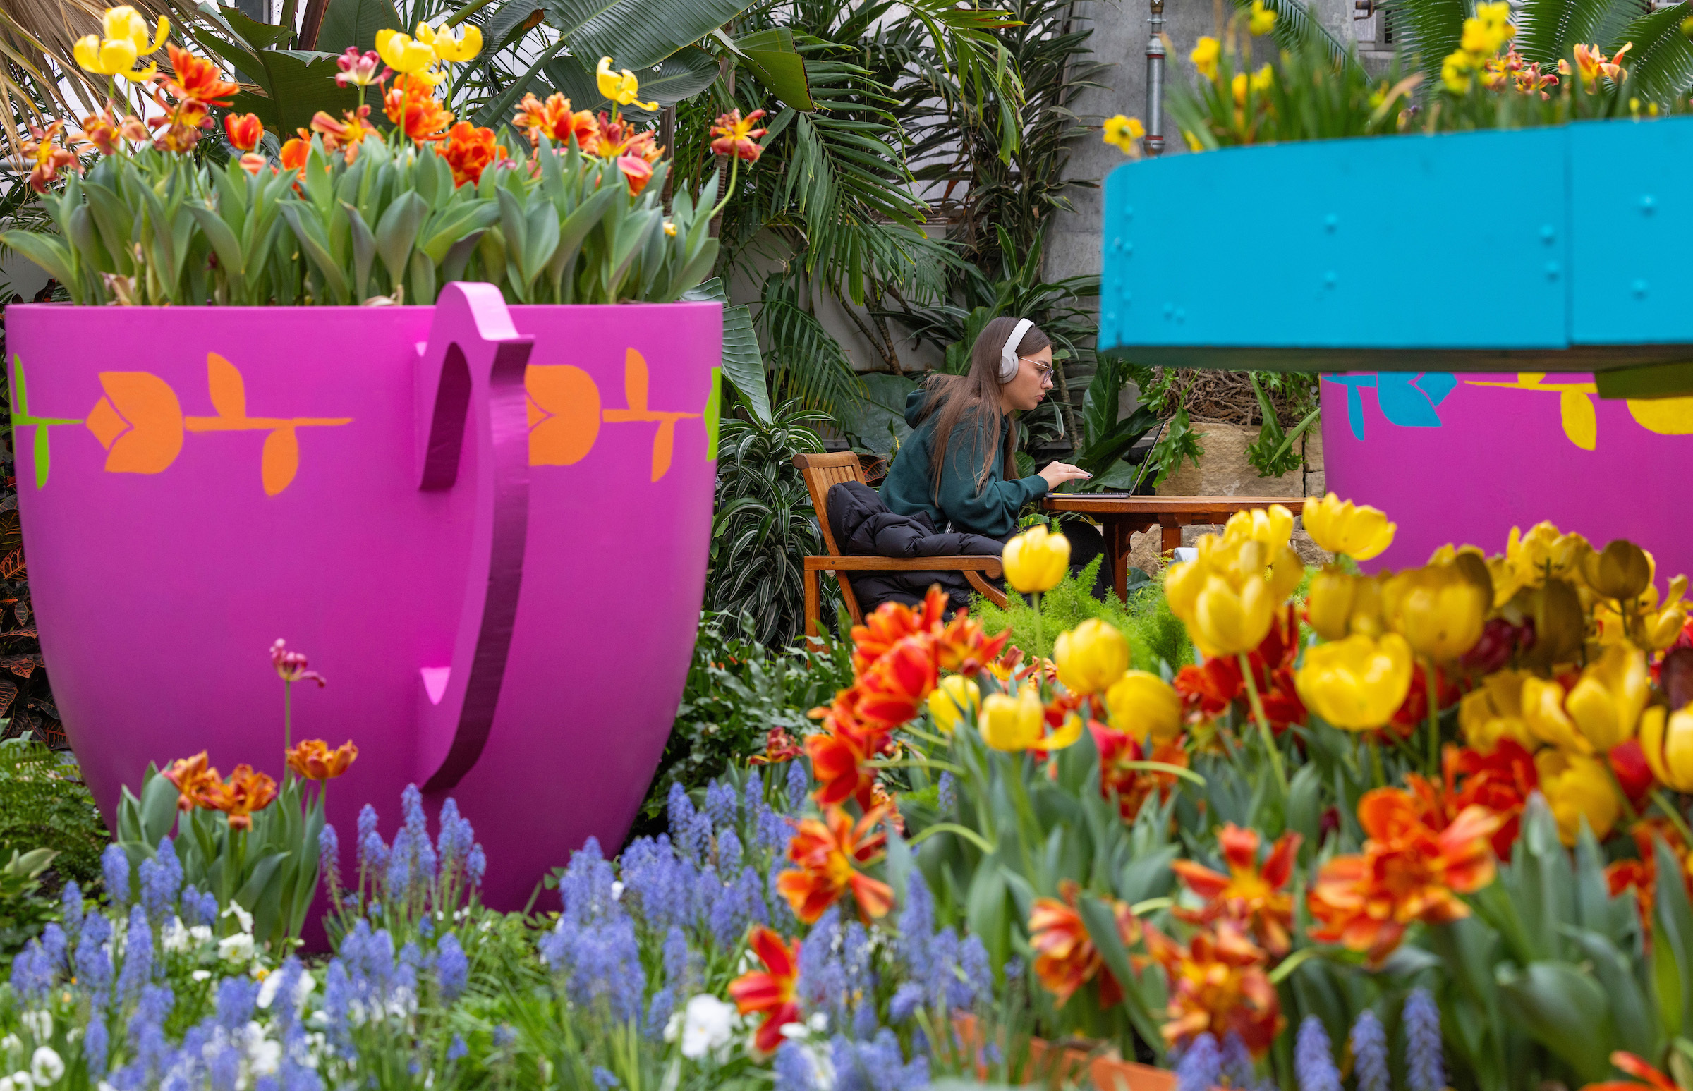
MULTIPOLYGON (((1493 881, 1490 837, 1500 815, 1466 807, 1436 829, 1429 812, 1402 788, 1375 788, 1358 803, 1365 851, 1337 856, 1322 866, 1307 896, 1322 922, 1312 939, 1368 951, 1380 964, 1415 920, 1449 924, 1470 915, 1458 895, 1493 881)), ((1439 820, 1439 819, 1436 819, 1439 820)))

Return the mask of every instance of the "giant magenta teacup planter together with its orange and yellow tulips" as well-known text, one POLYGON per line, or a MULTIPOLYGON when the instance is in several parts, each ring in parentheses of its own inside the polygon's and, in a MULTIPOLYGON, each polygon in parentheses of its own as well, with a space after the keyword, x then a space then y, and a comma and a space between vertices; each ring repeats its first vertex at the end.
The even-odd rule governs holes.
MULTIPOLYGON (((328 819, 452 790, 501 831, 488 900, 515 907, 587 836, 621 839, 682 690, 721 340, 721 303, 687 293, 716 183, 665 210, 664 149, 616 107, 455 123, 435 85, 476 42, 418 34, 349 49, 367 101, 274 156, 225 115, 218 164, 196 144, 235 85, 108 12, 78 58, 156 108, 113 93, 29 145, 58 233, 5 240, 71 303, 8 313, 20 507, 108 817, 147 761, 281 758, 240 663, 284 634, 332 682, 296 722, 366 754, 328 819), (135 71, 161 46, 166 74, 135 71)), ((638 100, 609 59, 599 85, 638 100)), ((755 157, 752 125, 721 118, 718 151, 755 157)))

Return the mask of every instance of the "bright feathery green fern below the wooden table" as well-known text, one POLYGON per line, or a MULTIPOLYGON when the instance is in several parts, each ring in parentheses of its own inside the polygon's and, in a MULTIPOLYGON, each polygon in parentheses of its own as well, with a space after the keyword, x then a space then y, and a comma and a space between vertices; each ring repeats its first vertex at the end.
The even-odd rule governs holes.
POLYGON ((1187 628, 1170 612, 1163 584, 1139 568, 1129 568, 1129 600, 1124 604, 1116 595, 1106 595, 1102 602, 1090 594, 1102 562, 1104 558, 1094 558, 1080 572, 1065 573, 1056 587, 1041 595, 1041 648, 1034 646, 1034 607, 1023 595, 1006 595, 1006 609, 987 599, 972 599, 970 614, 980 617, 989 633, 1009 628, 1011 644, 1023 648, 1026 655, 1050 656, 1051 643, 1060 633, 1099 617, 1129 641, 1133 666, 1138 670, 1158 672, 1161 665, 1168 665, 1175 672, 1192 663, 1194 644, 1187 639, 1187 628))

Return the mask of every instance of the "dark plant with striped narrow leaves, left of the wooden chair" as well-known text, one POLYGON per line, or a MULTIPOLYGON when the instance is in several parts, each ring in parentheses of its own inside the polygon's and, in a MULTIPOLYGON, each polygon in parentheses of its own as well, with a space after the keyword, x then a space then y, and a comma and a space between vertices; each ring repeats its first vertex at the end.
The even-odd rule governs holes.
MULTIPOLYGON (((706 609, 750 614, 757 619, 752 636, 765 644, 791 641, 804 628, 802 558, 821 553, 823 538, 794 455, 823 453, 814 428, 824 419, 791 401, 777 406, 770 423, 726 414, 718 433, 706 609)), ((833 580, 821 582, 823 594, 833 594, 833 580)))

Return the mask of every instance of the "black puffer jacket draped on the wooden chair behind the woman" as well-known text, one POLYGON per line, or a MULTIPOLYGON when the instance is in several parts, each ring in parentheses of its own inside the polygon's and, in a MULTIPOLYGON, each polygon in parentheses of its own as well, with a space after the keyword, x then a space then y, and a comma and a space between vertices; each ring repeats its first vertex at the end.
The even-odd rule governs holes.
MULTIPOLYGON (((897 516, 882 506, 875 489, 855 480, 843 480, 830 489, 830 531, 841 553, 855 556, 980 556, 999 553, 1002 543, 982 535, 941 535, 926 514, 897 516)), ((858 609, 865 614, 884 602, 923 602, 931 584, 940 584, 951 599, 953 609, 970 606, 970 582, 963 572, 848 572, 858 609)))

